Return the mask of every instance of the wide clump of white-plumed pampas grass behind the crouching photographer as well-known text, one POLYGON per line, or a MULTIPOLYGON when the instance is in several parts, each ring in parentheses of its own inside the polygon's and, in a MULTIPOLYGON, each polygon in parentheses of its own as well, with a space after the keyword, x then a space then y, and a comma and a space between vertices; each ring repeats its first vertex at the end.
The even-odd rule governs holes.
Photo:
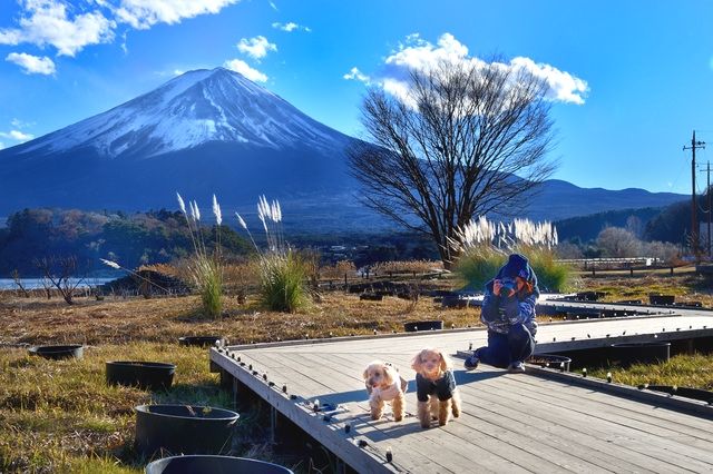
POLYGON ((482 288, 508 255, 518 253, 528 258, 541 290, 563 292, 572 282, 573 270, 557 261, 557 229, 548 221, 515 219, 506 225, 481 216, 459 229, 451 245, 460 255, 456 271, 469 288, 482 288))

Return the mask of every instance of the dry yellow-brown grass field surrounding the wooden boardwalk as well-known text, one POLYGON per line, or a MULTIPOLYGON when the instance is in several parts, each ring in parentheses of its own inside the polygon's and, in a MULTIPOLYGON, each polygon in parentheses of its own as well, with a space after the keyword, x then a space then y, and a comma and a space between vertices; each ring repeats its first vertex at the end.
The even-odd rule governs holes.
MULTIPOLYGON (((439 286, 457 288, 458 283, 442 280, 439 286)), ((713 306, 710 280, 692 275, 585 277, 578 289, 607 292, 607 300, 675 294, 677 300, 713 306)), ((477 308, 442 309, 427 297, 416 304, 395 297, 367 302, 343 292, 323 293, 299 314, 265 312, 250 296, 244 304, 226 297, 219 319, 205 319, 198 308, 196 296, 107 297, 100 302, 81 297, 70 306, 61 298, 1 294, 0 472, 139 473, 147 460, 138 457, 133 447, 134 406, 179 403, 232 408, 229 394, 208 372, 205 349, 178 346, 180 336, 222 335, 231 344, 244 344, 401 332, 403 323, 422 319, 442 319, 446 327, 479 324, 477 308), (87 346, 82 359, 48 361, 28 355, 26 348, 70 343, 87 346), (175 363, 174 387, 152 393, 107 386, 105 362, 120 359, 175 363)), ((704 361, 710 366, 710 356, 704 361)), ((695 359, 688 366, 699 385, 705 386, 712 382, 710 371, 696 368, 702 364, 695 359)), ((681 372, 681 367, 672 369, 681 372)), ((664 375, 666 372, 671 371, 663 371, 664 375)), ((623 381, 626 374, 616 377, 623 381)), ((263 416, 258 409, 241 408, 234 454, 270 460, 296 472, 328 468, 312 458, 275 453, 261 428, 263 416)))

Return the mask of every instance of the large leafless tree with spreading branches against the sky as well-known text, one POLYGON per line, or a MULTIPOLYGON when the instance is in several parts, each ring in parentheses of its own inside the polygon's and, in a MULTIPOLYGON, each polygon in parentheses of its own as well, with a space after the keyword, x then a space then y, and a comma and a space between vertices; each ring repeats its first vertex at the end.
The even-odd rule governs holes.
POLYGON ((547 90, 495 61, 412 71, 399 98, 371 88, 361 107, 370 144, 348 149, 364 203, 429 236, 450 266, 457 228, 476 215, 516 215, 551 175, 547 90))

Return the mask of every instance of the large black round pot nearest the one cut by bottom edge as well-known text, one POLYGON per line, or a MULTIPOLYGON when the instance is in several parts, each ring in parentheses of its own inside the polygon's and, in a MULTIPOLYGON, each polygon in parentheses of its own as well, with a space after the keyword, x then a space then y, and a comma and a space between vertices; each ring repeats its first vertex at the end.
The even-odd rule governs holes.
POLYGON ((135 409, 136 448, 148 457, 160 448, 184 454, 227 453, 240 417, 229 409, 197 405, 139 405, 135 409))

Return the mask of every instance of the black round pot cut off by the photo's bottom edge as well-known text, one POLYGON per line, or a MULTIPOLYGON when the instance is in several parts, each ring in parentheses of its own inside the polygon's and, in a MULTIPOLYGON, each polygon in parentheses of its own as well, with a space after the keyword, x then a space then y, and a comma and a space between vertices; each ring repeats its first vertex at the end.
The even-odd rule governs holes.
POLYGON ((146 474, 250 473, 292 474, 286 467, 247 457, 189 455, 164 457, 146 466, 146 474))

